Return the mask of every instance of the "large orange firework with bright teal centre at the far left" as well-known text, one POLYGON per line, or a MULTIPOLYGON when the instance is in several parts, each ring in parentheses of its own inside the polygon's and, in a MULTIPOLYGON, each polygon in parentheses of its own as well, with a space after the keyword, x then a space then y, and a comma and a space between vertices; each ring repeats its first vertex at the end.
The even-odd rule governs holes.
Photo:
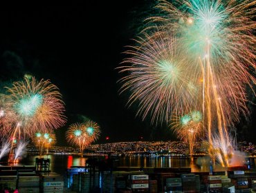
POLYGON ((51 132, 66 122, 64 103, 58 88, 50 81, 24 78, 7 88, 4 99, 8 102, 7 125, 12 137, 32 137, 36 130, 51 132), (15 122, 13 122, 15 120, 15 122))

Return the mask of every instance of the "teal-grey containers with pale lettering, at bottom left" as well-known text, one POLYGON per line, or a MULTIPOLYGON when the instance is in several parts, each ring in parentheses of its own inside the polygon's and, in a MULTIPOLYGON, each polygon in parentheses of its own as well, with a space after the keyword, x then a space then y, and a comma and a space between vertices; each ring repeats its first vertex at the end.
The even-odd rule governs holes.
POLYGON ((64 179, 60 175, 43 175, 40 184, 44 193, 62 193, 64 191, 64 179))

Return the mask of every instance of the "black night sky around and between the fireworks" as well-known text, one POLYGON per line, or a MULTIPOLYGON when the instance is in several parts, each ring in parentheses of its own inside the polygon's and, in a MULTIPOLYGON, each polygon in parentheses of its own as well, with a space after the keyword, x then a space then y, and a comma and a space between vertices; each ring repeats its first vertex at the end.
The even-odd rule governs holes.
MULTIPOLYGON (((56 131, 57 145, 66 145, 71 123, 87 117, 102 130, 97 143, 175 139, 167 125, 151 125, 136 117, 136 106, 118 94, 125 45, 138 34, 151 1, 89 1, 68 6, 0 9, 1 88, 24 73, 50 79, 60 88, 67 123, 56 131), (105 138, 109 136, 109 141, 105 138)), ((255 106, 253 107, 255 109, 255 106)), ((255 110, 252 116, 255 116, 255 110)), ((255 121, 240 123, 241 140, 254 140, 255 121), (253 134, 253 135, 252 135, 253 134), (250 137, 249 137, 250 136, 250 137)))

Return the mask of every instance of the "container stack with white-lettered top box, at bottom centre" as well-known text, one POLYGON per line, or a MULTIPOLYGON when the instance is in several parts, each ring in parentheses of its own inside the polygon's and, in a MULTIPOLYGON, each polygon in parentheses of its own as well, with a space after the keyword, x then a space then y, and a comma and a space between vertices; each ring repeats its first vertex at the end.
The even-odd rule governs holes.
POLYGON ((133 192, 147 192, 149 190, 149 175, 130 175, 129 187, 133 192))

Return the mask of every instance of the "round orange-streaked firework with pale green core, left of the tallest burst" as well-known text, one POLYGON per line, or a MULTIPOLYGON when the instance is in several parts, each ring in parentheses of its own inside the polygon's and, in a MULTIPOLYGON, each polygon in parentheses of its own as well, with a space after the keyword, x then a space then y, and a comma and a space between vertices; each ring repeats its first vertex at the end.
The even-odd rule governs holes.
POLYGON ((145 34, 138 45, 125 52, 131 57, 125 59, 120 72, 128 75, 121 92, 131 90, 129 104, 139 101, 138 114, 150 114, 152 122, 170 121, 174 112, 190 111, 198 95, 196 82, 201 72, 196 72, 183 52, 177 48, 176 39, 167 32, 154 38, 145 34))

